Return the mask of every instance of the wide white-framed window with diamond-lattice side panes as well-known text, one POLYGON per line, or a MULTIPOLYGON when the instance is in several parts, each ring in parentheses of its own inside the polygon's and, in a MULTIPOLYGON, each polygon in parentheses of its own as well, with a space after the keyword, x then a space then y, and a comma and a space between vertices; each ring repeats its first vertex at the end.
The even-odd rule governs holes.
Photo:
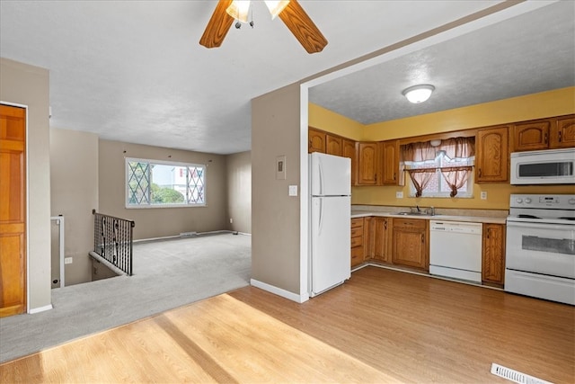
POLYGON ((126 158, 126 208, 206 205, 206 165, 126 158))

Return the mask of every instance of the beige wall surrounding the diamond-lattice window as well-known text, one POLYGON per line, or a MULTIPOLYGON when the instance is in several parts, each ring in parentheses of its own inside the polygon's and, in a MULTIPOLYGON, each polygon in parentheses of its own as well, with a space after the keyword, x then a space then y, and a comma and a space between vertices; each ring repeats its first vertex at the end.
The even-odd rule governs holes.
POLYGON ((226 156, 100 140, 99 211, 136 221, 134 238, 177 236, 228 228, 226 156), (205 207, 126 208, 125 157, 208 165, 205 207))

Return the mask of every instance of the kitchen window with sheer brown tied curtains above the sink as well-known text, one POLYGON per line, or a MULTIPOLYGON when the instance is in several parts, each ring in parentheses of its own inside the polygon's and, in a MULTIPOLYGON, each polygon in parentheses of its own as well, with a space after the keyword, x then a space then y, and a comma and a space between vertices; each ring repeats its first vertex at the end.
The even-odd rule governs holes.
POLYGON ((473 197, 474 138, 411 143, 402 158, 411 197, 473 197))

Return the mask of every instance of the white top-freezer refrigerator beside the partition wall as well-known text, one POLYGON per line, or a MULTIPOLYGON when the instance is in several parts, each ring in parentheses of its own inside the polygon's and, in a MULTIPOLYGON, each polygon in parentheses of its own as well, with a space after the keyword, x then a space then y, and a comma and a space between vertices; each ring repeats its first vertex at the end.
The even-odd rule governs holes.
POLYGON ((309 166, 309 294, 314 297, 351 276, 351 160, 314 152, 309 166))

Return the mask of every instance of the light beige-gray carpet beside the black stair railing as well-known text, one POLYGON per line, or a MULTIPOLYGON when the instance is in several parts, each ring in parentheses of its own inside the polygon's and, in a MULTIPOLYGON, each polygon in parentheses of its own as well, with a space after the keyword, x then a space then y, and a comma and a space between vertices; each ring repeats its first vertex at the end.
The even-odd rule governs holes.
POLYGON ((0 362, 249 284, 252 237, 134 245, 134 275, 52 290, 53 309, 0 319, 0 362))

